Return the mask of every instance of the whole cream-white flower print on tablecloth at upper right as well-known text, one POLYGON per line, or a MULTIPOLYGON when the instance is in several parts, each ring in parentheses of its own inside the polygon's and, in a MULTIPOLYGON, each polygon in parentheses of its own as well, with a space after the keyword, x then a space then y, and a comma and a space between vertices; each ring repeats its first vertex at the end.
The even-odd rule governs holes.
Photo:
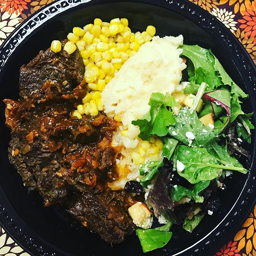
POLYGON ((232 33, 237 30, 237 22, 234 21, 235 14, 233 14, 233 12, 228 12, 226 8, 213 8, 211 14, 215 16, 218 20, 220 20, 227 28, 229 28, 232 33))

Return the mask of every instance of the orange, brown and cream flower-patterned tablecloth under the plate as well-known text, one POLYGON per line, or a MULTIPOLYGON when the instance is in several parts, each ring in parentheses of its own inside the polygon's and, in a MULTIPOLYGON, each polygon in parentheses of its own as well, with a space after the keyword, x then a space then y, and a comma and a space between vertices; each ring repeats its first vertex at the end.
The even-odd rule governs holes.
MULTIPOLYGON (((0 44, 28 16, 54 0, 0 0, 0 44)), ((217 17, 256 64, 256 0, 190 0, 217 17)), ((29 256, 0 227, 0 256, 29 256)), ((240 231, 214 256, 256 256, 256 206, 240 231)))

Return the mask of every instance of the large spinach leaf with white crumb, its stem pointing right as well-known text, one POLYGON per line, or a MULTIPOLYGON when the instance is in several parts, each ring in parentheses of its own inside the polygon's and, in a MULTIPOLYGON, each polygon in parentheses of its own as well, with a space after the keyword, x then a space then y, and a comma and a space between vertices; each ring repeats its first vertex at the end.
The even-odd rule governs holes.
POLYGON ((218 164, 216 158, 210 155, 205 148, 179 145, 174 151, 173 159, 178 174, 192 184, 213 180, 222 174, 222 169, 247 173, 243 167, 218 164))

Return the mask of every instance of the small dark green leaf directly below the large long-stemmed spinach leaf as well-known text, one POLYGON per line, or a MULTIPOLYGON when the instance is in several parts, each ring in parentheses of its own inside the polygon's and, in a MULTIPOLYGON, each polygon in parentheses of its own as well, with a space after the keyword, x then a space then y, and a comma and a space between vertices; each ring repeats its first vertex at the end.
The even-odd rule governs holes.
POLYGON ((171 199, 173 202, 178 202, 183 196, 193 199, 196 203, 204 202, 204 197, 199 196, 199 193, 207 188, 210 184, 210 180, 200 181, 194 185, 192 190, 183 186, 173 186, 171 191, 171 199))

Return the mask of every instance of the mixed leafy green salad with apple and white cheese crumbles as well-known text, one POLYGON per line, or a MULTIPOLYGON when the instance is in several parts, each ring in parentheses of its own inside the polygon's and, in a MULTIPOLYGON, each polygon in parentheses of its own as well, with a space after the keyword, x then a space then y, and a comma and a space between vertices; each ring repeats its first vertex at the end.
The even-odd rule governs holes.
POLYGON ((246 174, 240 162, 250 164, 250 154, 241 146, 251 142, 254 128, 253 113, 244 113, 241 106, 248 95, 211 50, 181 48, 189 81, 184 91, 176 97, 152 93, 149 112, 132 122, 139 126, 142 140, 156 135, 164 141, 163 160, 139 166, 140 184, 150 188, 146 204, 165 223, 137 228, 143 252, 167 244, 172 224, 192 232, 206 214, 218 210, 216 190, 224 189, 224 178, 233 171, 246 174))

